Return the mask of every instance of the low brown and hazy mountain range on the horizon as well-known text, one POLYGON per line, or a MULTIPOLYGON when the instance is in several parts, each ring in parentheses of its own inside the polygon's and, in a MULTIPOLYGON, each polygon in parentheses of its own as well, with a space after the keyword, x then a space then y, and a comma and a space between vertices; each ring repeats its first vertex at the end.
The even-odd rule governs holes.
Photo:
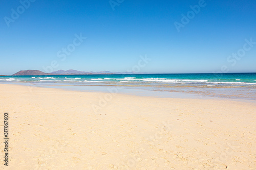
MULTIPOLYGON (((86 71, 77 71, 74 69, 58 70, 50 73, 42 72, 39 70, 20 70, 13 74, 12 76, 39 76, 39 75, 117 75, 117 74, 138 74, 138 72, 111 72, 111 71, 99 71, 99 72, 86 72, 86 71)), ((140 73, 145 74, 145 73, 140 73)))

